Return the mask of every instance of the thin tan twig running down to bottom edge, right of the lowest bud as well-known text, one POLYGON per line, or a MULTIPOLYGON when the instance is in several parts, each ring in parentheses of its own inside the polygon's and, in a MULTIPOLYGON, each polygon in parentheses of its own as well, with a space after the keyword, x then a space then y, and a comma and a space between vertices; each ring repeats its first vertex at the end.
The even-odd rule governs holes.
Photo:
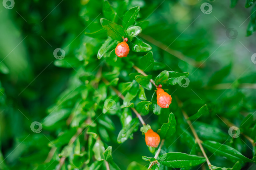
MULTIPOLYGON (((182 107, 182 102, 181 102, 178 98, 177 98, 177 102, 178 102, 178 106, 179 106, 180 109, 181 109, 181 107, 182 107)), ((208 157, 207 157, 207 155, 206 155, 206 153, 205 153, 205 151, 204 151, 204 148, 203 148, 203 146, 202 146, 202 144, 201 144, 202 141, 199 139, 199 137, 198 137, 198 135, 197 135, 197 133, 196 133, 196 131, 195 131, 195 129, 194 129, 194 127, 193 127, 191 121, 188 120, 188 116, 187 116, 185 110, 181 109, 181 111, 182 111, 182 114, 183 114, 183 116, 185 117, 185 119, 186 119, 186 121, 187 121, 187 124, 189 125, 189 127, 190 127, 190 129, 191 129, 191 131, 192 131, 192 133, 193 133, 193 136, 194 136, 195 139, 196 139, 196 142, 198 143, 198 145, 199 145, 199 147, 200 147, 200 150, 202 151, 202 153, 203 153, 203 155, 204 155, 204 157, 205 157, 205 159, 206 159, 206 162, 207 162, 207 165, 208 165, 209 169, 212 170, 212 168, 211 168, 211 163, 210 163, 210 161, 209 161, 209 159, 208 159, 208 157)))

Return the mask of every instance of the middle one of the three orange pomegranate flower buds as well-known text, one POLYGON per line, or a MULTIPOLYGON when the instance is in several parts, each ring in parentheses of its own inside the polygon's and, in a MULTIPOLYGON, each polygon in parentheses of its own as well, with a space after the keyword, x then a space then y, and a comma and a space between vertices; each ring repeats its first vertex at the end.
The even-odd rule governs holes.
POLYGON ((162 85, 160 84, 157 87, 157 91, 156 91, 157 104, 162 108, 169 108, 169 105, 172 103, 172 97, 171 95, 166 93, 161 87, 162 85))

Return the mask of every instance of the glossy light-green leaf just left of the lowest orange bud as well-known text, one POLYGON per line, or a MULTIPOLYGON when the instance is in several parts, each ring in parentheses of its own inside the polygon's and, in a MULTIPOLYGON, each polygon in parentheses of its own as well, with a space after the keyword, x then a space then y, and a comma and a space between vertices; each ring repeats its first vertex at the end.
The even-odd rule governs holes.
POLYGON ((124 126, 122 130, 119 132, 117 137, 117 142, 119 144, 123 143, 128 138, 132 137, 133 132, 138 130, 139 121, 138 118, 133 118, 129 124, 124 126))

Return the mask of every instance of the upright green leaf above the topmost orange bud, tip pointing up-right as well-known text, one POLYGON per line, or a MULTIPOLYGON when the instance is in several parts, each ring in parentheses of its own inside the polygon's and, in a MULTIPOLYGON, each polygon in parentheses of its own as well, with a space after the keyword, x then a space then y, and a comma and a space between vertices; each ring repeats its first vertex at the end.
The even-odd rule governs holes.
POLYGON ((134 25, 139 11, 140 11, 140 7, 137 6, 137 7, 134 7, 132 9, 130 9, 129 11, 127 11, 124 14, 123 27, 124 27, 125 30, 128 28, 128 26, 134 25))

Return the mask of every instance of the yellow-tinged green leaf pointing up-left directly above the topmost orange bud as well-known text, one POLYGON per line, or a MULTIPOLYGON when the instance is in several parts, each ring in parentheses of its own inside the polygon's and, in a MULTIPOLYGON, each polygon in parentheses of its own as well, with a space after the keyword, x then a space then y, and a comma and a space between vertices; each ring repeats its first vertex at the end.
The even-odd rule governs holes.
POLYGON ((124 35, 124 29, 121 25, 114 24, 113 22, 101 18, 101 25, 106 31, 107 35, 113 40, 121 41, 124 35))

